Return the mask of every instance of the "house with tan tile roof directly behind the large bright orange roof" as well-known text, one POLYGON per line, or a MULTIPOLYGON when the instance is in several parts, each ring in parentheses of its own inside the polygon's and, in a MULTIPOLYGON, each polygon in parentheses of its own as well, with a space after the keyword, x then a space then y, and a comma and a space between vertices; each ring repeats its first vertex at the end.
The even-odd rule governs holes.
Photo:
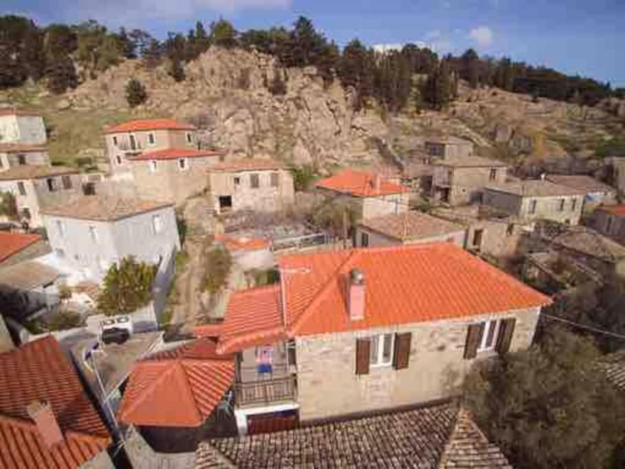
POLYGON ((355 229, 353 245, 380 247, 445 241, 462 248, 466 236, 467 229, 462 225, 413 210, 363 220, 355 229))

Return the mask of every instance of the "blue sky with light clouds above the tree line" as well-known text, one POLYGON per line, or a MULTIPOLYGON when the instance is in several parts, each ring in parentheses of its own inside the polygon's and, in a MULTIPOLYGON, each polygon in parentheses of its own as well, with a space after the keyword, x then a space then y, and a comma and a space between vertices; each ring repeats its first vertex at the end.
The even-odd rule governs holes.
POLYGON ((339 45, 423 41, 439 52, 508 55, 625 86, 625 0, 0 0, 40 24, 96 19, 154 36, 223 16, 239 30, 303 14, 339 45))

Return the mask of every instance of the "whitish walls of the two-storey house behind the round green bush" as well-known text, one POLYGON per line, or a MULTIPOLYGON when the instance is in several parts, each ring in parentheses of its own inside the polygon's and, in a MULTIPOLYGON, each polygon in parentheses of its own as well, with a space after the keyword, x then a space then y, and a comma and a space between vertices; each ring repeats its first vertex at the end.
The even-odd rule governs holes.
POLYGON ((106 270, 127 255, 140 261, 156 263, 159 256, 166 258, 174 247, 180 247, 178 227, 173 207, 149 211, 115 222, 81 220, 58 216, 45 216, 49 243, 52 249, 62 249, 63 262, 78 269, 85 279, 99 282, 106 270), (155 234, 152 216, 160 215, 163 229, 155 234), (64 224, 61 236, 57 221, 64 224), (89 227, 95 227, 97 241, 91 237, 89 227))

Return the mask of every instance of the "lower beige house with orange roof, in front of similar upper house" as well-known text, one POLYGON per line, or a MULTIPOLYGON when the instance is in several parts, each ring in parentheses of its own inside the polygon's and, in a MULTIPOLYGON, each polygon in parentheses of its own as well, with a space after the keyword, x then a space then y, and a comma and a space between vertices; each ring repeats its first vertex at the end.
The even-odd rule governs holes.
POLYGON ((165 148, 126 158, 140 198, 176 205, 207 189, 207 172, 222 154, 194 148, 165 148))

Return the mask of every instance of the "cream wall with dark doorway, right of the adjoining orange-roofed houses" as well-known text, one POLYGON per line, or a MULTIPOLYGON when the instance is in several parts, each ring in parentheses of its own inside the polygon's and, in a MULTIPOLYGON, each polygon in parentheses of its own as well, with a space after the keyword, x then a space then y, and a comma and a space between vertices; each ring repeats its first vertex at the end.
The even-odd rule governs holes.
POLYGON ((254 209, 278 211, 295 201, 293 176, 287 170, 213 172, 209 174, 211 198, 215 211, 220 211, 220 196, 231 196, 233 211, 254 209), (271 174, 279 174, 278 185, 271 185, 271 174), (251 174, 259 175, 259 187, 251 187, 251 174), (239 184, 235 185, 235 178, 239 184))

